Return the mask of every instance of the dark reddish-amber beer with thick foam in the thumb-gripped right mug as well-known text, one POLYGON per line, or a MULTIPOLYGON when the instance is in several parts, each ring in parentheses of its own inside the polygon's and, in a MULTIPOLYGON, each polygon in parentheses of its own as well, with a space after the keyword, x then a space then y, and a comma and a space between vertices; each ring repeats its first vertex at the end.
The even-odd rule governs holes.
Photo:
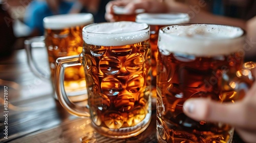
POLYGON ((232 86, 243 62, 242 29, 222 25, 175 25, 161 28, 157 63, 158 142, 231 142, 233 128, 187 117, 189 98, 233 102, 232 86))

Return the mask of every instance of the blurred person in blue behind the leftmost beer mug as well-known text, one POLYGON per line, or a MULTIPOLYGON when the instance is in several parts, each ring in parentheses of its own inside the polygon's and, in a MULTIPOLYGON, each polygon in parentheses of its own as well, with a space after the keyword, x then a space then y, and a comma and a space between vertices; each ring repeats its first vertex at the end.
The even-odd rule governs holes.
POLYGON ((67 13, 92 13, 94 22, 105 22, 105 6, 110 0, 34 0, 25 13, 24 22, 30 36, 44 35, 42 20, 46 16, 67 13))

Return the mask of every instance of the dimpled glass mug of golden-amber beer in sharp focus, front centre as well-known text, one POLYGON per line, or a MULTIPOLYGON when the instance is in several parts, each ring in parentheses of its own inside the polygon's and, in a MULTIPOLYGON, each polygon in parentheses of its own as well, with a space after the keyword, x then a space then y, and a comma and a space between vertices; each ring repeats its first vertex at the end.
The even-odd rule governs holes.
POLYGON ((94 23, 82 30, 80 55, 58 58, 55 86, 61 105, 73 115, 90 116, 95 130, 113 138, 144 131, 151 121, 150 26, 131 21, 94 23), (72 104, 65 93, 65 67, 82 65, 88 106, 72 104))

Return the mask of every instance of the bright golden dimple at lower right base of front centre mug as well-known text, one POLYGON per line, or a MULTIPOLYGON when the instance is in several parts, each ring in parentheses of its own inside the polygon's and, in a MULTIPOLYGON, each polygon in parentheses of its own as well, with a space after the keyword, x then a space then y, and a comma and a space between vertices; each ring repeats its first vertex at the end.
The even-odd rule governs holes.
POLYGON ((129 112, 127 118, 127 124, 129 126, 135 126, 139 124, 146 116, 144 108, 138 106, 129 112))

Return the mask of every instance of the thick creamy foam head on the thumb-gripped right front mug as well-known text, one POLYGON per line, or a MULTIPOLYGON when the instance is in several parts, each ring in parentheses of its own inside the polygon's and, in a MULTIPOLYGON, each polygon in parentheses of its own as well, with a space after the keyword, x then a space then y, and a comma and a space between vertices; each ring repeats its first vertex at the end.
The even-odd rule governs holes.
POLYGON ((163 55, 173 52, 203 57, 228 55, 239 52, 245 38, 241 28, 223 25, 176 25, 163 31, 159 31, 158 39, 163 55))

